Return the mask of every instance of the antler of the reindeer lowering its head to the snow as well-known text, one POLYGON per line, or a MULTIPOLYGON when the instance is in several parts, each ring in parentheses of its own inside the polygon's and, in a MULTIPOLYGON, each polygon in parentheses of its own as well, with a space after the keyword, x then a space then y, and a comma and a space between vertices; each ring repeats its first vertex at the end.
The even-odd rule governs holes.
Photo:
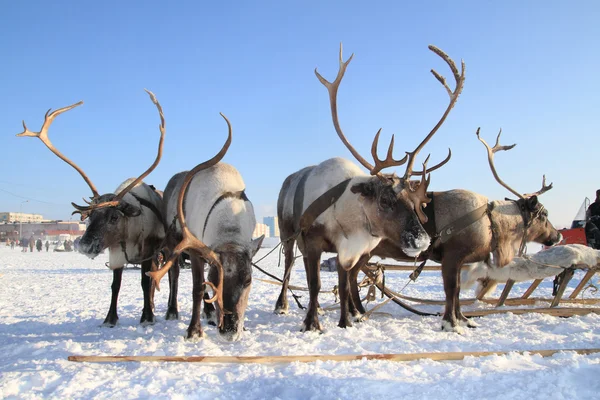
POLYGON ((210 286, 214 291, 213 297, 209 300, 205 300, 205 302, 213 303, 216 301, 221 310, 219 326, 222 325, 223 314, 225 313, 225 309, 223 307, 223 266, 221 265, 217 254, 208 246, 206 246, 206 244, 202 243, 202 241, 200 241, 187 227, 187 224, 185 223, 185 216, 183 214, 183 202, 185 200, 187 188, 194 176, 198 172, 208 169, 213 165, 217 164, 219 161, 221 161, 221 159, 223 159, 223 157, 225 156, 225 153, 227 153, 229 146, 231 145, 231 123, 225 115, 221 114, 221 116, 223 117, 223 119, 225 119, 225 122, 227 122, 227 126, 229 129, 227 141, 225 142, 221 150, 213 158, 196 165, 191 171, 189 171, 185 176, 185 179, 183 180, 181 188, 179 189, 179 197, 177 200, 177 219, 179 220, 179 224, 181 226, 183 239, 175 247, 175 249, 173 250, 173 254, 169 258, 169 260, 162 266, 161 269, 159 269, 158 271, 146 272, 146 275, 151 277, 156 283, 156 289, 160 291, 160 280, 163 278, 163 276, 165 276, 169 269, 171 269, 173 263, 177 260, 177 257, 179 257, 179 255, 186 250, 196 253, 199 257, 206 260, 209 264, 217 267, 217 270, 219 271, 218 285, 215 287, 214 284, 208 281, 204 282, 204 284, 210 286))

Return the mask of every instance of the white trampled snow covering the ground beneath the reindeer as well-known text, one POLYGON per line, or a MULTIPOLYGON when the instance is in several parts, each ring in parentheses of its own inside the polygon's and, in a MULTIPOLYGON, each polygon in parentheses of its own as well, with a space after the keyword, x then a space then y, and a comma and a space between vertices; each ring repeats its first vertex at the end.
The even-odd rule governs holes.
MULTIPOLYGON (((258 256, 268 250, 261 249, 258 256)), ((437 317, 418 317, 393 304, 381 309, 391 317, 376 315, 346 330, 336 327, 338 311, 330 311, 321 316, 323 334, 300 333, 304 312, 291 301, 289 315, 274 315, 279 288, 259 281, 252 287, 246 313, 248 331, 240 341, 222 343, 215 328, 206 325, 206 338, 187 341, 183 335, 191 311, 189 270, 181 274, 180 321, 164 320, 165 287, 156 294, 157 323, 149 327, 138 324, 140 270, 132 269, 123 276, 119 324, 103 328, 112 279, 104 266, 106 259, 105 255, 92 261, 74 253, 21 253, 0 248, 0 398, 583 399, 598 398, 600 391, 600 355, 574 353, 551 358, 511 354, 409 363, 69 362, 67 357, 72 354, 301 355, 600 347, 598 315, 566 319, 536 314, 489 316, 478 319, 479 328, 461 336, 441 332, 437 317)), ((277 261, 275 252, 261 266, 280 276, 277 261)), ((386 283, 400 290, 407 275, 388 272, 386 283)), ((337 282, 333 272, 321 276, 324 289, 337 282)), ((264 278, 258 271, 255 277, 264 278)), ((579 277, 575 276, 573 285, 579 277)), ((304 279, 297 263, 292 283, 305 286, 304 279)), ((527 286, 518 284, 514 291, 527 286)), ((551 280, 538 290, 549 295, 551 280)), ((424 272, 403 293, 441 298, 439 273, 424 272)), ((465 296, 472 296, 472 291, 465 296)), ((307 297, 304 294, 301 299, 304 304, 307 297)), ((333 296, 321 295, 320 300, 328 306, 333 296)))

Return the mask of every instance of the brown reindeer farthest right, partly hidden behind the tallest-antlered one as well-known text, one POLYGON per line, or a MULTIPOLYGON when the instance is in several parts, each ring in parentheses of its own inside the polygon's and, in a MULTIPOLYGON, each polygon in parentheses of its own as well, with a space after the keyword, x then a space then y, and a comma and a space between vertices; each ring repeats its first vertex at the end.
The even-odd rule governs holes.
MULTIPOLYGON (((500 131, 501 133, 502 131, 500 131)), ((500 185, 518 197, 518 200, 489 201, 487 197, 467 190, 449 190, 429 192, 432 202, 426 212, 432 218, 425 229, 434 240, 420 260, 431 259, 442 264, 442 278, 446 294, 446 308, 442 318, 442 329, 462 332, 461 325, 475 327, 460 311, 460 271, 467 263, 484 261, 495 268, 501 268, 523 249, 527 242, 552 246, 562 240, 562 235, 548 220, 548 212, 539 202, 538 196, 552 189, 542 180, 542 188, 531 194, 522 195, 504 183, 494 166, 494 154, 501 150, 510 150, 515 145, 501 146, 500 133, 494 147, 490 147, 480 136, 477 138, 485 145, 488 162, 494 178, 500 185), (468 216, 466 217, 465 216, 468 216), (459 222, 460 219, 466 222, 459 222), (492 257, 490 257, 490 255, 492 257)), ((413 261, 414 257, 399 252, 390 243, 382 244, 371 253, 382 258, 401 261, 413 261)), ((360 302, 356 276, 358 265, 349 274, 351 305, 357 313, 365 310, 360 302)), ((491 282, 493 285, 493 282, 491 282)))

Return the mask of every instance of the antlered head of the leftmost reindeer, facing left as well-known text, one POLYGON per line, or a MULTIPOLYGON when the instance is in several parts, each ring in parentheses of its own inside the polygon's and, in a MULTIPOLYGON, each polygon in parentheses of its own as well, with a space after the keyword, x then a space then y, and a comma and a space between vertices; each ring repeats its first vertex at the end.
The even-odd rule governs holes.
POLYGON ((150 100, 156 105, 161 124, 159 126, 160 129, 160 141, 158 145, 158 154, 154 163, 148 168, 144 173, 142 173, 136 179, 129 179, 123 185, 121 185, 117 189, 117 194, 109 193, 100 195, 96 190, 96 187, 92 183, 92 181, 88 178, 88 176, 83 172, 77 164, 73 161, 69 160, 65 157, 50 141, 48 138, 48 129, 50 125, 54 121, 56 116, 69 111, 81 104, 83 102, 79 102, 73 104, 68 107, 60 108, 53 112, 48 110, 46 112, 46 116, 44 118, 44 123, 39 132, 32 132, 27 129, 25 125, 25 121, 23 121, 24 131, 19 133, 17 136, 30 136, 30 137, 38 137, 54 154, 56 154, 60 159, 65 161, 67 164, 72 166, 85 182, 88 184, 90 189, 92 190, 92 196, 90 200, 83 199, 83 201, 87 204, 86 206, 80 206, 75 203, 71 203, 75 208, 73 214, 81 214, 81 220, 90 219, 90 224, 85 231, 85 234, 82 236, 79 246, 79 251, 88 257, 94 258, 96 257, 102 250, 112 247, 118 244, 121 241, 124 241, 127 238, 128 232, 128 224, 129 219, 137 217, 141 214, 141 210, 139 206, 135 205, 137 201, 134 197, 128 193, 135 186, 139 185, 142 180, 150 174, 156 168, 158 163, 160 162, 162 156, 162 148, 165 137, 165 119, 162 111, 162 107, 160 103, 154 96, 154 93, 146 90, 148 95, 150 96, 150 100), (123 187, 125 186, 125 187, 123 187), (127 198, 125 198, 125 196, 127 198))

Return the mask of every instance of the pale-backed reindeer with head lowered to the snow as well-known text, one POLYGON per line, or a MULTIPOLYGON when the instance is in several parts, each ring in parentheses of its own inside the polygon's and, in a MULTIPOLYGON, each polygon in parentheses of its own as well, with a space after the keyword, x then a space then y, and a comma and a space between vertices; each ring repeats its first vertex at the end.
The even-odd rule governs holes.
POLYGON ((169 310, 177 312, 176 261, 186 251, 191 258, 193 279, 192 319, 187 338, 203 336, 200 306, 206 284, 215 291, 212 298, 204 299, 207 318, 216 320, 221 338, 235 341, 244 329, 244 314, 252 287, 252 257, 264 236, 252 240, 256 219, 242 176, 233 166, 219 162, 231 144, 231 124, 221 115, 229 127, 228 139, 221 151, 191 171, 176 174, 167 184, 165 221, 177 219, 174 229, 168 230, 167 247, 171 256, 159 271, 148 275, 159 288, 160 279, 169 272, 171 292, 175 293, 169 299, 169 310), (206 262, 212 268, 209 281, 204 282, 206 262), (212 306, 215 301, 216 313, 212 306))

